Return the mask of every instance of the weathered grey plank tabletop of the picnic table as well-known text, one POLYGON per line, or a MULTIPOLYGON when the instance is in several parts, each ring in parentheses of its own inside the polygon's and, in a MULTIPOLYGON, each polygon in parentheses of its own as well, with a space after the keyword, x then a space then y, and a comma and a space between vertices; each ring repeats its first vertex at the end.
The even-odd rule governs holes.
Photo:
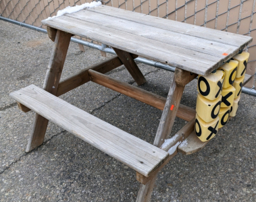
POLYGON ((42 23, 201 75, 220 67, 253 40, 105 5, 42 23))

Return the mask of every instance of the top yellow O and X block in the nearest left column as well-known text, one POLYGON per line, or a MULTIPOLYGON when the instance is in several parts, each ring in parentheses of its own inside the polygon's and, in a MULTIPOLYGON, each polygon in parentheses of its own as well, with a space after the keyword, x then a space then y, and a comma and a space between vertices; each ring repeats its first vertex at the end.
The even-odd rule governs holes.
POLYGON ((215 100, 222 94, 222 84, 224 81, 224 71, 217 70, 207 76, 199 75, 197 91, 208 100, 215 100))

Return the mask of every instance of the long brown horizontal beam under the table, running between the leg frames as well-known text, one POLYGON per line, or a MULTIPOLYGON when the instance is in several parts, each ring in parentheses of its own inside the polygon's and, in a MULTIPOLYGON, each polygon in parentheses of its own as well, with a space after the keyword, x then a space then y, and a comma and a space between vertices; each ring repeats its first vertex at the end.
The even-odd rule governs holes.
MULTIPOLYGON (((98 83, 101 86, 105 86, 107 88, 110 88, 111 90, 115 90, 126 96, 139 100, 140 102, 144 102, 146 104, 154 106, 159 110, 163 110, 164 108, 166 98, 148 92, 147 90, 140 89, 136 86, 132 86, 128 83, 118 81, 107 75, 103 75, 93 70, 89 70, 89 74, 91 77, 91 81, 98 83)), ((195 118, 195 109, 180 104, 177 116, 180 119, 190 121, 191 119, 195 118)))

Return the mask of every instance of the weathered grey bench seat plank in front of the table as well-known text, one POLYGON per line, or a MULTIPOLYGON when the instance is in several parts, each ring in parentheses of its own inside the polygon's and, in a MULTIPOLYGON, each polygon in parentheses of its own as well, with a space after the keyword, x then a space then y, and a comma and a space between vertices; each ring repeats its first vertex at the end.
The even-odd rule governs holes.
POLYGON ((12 92, 10 96, 145 176, 149 176, 169 156, 168 152, 34 85, 12 92))

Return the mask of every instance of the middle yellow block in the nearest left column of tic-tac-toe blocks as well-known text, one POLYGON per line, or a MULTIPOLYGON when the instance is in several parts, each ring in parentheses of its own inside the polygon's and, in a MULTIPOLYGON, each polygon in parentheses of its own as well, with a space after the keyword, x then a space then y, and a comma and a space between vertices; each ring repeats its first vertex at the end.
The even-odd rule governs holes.
POLYGON ((217 97, 215 100, 208 100, 201 94, 197 94, 197 107, 196 111, 203 121, 209 123, 217 118, 220 111, 220 104, 222 103, 222 96, 217 97))

